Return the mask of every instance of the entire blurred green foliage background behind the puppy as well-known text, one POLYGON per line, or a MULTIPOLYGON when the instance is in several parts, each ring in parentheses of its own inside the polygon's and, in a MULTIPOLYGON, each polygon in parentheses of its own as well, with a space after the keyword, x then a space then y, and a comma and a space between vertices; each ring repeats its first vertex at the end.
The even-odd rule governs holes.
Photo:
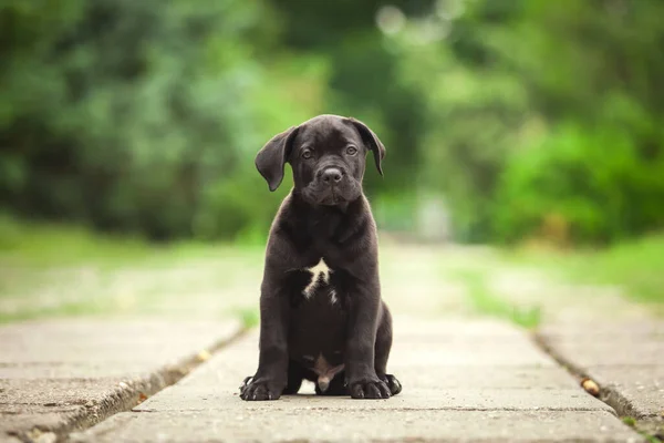
POLYGON ((464 241, 664 222, 658 0, 4 0, 0 209, 151 239, 262 238, 253 156, 319 113, 387 146, 378 224, 464 241))

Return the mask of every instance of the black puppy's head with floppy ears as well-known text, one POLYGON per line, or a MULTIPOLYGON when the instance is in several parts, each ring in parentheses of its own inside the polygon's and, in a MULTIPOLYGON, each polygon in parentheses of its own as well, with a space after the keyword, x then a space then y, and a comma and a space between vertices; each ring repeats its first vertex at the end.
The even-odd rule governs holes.
POLYGON ((274 190, 288 162, 295 189, 304 200, 340 205, 362 194, 366 154, 373 153, 378 173, 385 146, 364 123, 338 115, 319 115, 277 134, 256 156, 256 167, 274 190))

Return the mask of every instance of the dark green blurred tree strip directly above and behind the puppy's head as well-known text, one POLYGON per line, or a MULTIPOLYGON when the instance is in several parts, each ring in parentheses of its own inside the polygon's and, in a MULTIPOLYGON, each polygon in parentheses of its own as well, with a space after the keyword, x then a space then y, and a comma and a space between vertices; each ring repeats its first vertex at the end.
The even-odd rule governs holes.
MULTIPOLYGON (((365 121, 387 147, 384 181, 366 174, 370 193, 413 193, 421 163, 419 134, 424 128, 422 92, 398 76, 398 54, 384 44, 375 25, 380 0, 272 0, 284 22, 284 43, 305 53, 323 53, 330 63, 326 113, 365 121)), ((433 0, 398 0, 406 14, 422 16, 433 0)))

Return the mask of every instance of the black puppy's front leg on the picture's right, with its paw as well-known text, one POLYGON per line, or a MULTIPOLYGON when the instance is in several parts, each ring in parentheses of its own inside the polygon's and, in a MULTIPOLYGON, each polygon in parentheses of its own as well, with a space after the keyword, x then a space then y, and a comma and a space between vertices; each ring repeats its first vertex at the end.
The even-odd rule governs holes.
POLYGON ((353 399, 387 399, 390 389, 375 370, 375 343, 381 313, 377 276, 360 282, 352 297, 346 343, 346 380, 353 399))

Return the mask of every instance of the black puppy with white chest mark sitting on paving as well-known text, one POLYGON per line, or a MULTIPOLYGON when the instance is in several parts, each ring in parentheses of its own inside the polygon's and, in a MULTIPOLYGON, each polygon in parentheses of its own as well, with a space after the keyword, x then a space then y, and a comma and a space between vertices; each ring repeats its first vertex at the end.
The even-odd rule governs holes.
POLYGON ((387 399, 392 317, 381 299, 376 226, 362 193, 365 157, 385 147, 354 119, 320 115, 276 135, 256 157, 270 190, 291 164, 294 188, 270 229, 260 297, 258 370, 243 400, 318 394, 387 399))

